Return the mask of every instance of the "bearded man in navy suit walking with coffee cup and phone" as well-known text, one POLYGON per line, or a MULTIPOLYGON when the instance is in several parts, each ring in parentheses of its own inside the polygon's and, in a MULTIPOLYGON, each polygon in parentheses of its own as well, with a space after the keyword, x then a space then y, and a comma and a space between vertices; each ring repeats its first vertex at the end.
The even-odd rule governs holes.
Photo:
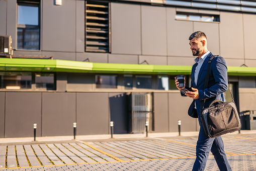
MULTIPOLYGON (((207 37, 204 32, 197 31, 189 37, 190 49, 193 56, 197 56, 195 64, 191 72, 191 89, 185 94, 181 92, 182 96, 187 96, 193 99, 188 113, 190 115, 198 116, 200 131, 196 146, 196 161, 193 170, 204 170, 209 152, 211 151, 218 164, 220 171, 232 170, 224 152, 224 145, 221 136, 216 138, 209 138, 205 135, 204 128, 200 118, 201 101, 206 99, 204 107, 209 107, 212 101, 218 99, 224 101, 224 92, 227 91, 227 66, 223 57, 216 56, 212 60, 208 88, 204 89, 206 71, 209 59, 214 56, 207 49, 207 37)), ((179 90, 179 81, 176 79, 176 86, 179 90)), ((185 86, 185 85, 184 85, 185 86)))

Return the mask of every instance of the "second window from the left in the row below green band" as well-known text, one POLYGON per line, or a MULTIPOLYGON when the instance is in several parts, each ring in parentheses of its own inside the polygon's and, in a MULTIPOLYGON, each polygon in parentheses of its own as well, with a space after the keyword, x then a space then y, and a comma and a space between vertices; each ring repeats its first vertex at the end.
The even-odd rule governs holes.
POLYGON ((56 90, 53 73, 36 73, 35 84, 37 90, 56 90))

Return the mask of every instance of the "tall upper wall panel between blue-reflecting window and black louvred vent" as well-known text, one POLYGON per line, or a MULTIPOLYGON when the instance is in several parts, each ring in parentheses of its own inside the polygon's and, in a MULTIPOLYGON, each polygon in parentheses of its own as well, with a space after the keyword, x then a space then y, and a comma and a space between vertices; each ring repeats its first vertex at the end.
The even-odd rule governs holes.
POLYGON ((62 1, 61 6, 52 1, 42 1, 42 50, 75 51, 75 2, 62 1))

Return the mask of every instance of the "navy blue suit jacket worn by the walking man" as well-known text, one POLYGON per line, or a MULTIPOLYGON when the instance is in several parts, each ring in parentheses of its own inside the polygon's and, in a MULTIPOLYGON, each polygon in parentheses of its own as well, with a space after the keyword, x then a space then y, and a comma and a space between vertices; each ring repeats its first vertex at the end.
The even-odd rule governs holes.
MULTIPOLYGON (((221 56, 216 56, 212 60, 208 88, 204 89, 205 77, 208 67, 209 59, 214 56, 212 53, 209 53, 203 62, 203 65, 200 68, 197 85, 195 84, 195 69, 197 63, 192 66, 191 72, 191 87, 198 89, 199 99, 193 100, 190 105, 188 113, 191 114, 197 111, 198 118, 200 118, 200 107, 201 101, 206 99, 204 107, 207 108, 214 100, 221 100, 224 102, 224 92, 227 91, 228 78, 227 78, 227 65, 226 61, 221 56), (195 111, 195 101, 197 110, 195 111)), ((185 96, 185 95, 184 95, 185 96)))

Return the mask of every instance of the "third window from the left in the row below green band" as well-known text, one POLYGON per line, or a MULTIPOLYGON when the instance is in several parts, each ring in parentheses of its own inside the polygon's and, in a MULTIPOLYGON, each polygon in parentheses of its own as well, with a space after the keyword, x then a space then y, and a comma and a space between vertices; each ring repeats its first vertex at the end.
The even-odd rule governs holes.
POLYGON ((117 89, 117 75, 96 75, 97 89, 117 89))

